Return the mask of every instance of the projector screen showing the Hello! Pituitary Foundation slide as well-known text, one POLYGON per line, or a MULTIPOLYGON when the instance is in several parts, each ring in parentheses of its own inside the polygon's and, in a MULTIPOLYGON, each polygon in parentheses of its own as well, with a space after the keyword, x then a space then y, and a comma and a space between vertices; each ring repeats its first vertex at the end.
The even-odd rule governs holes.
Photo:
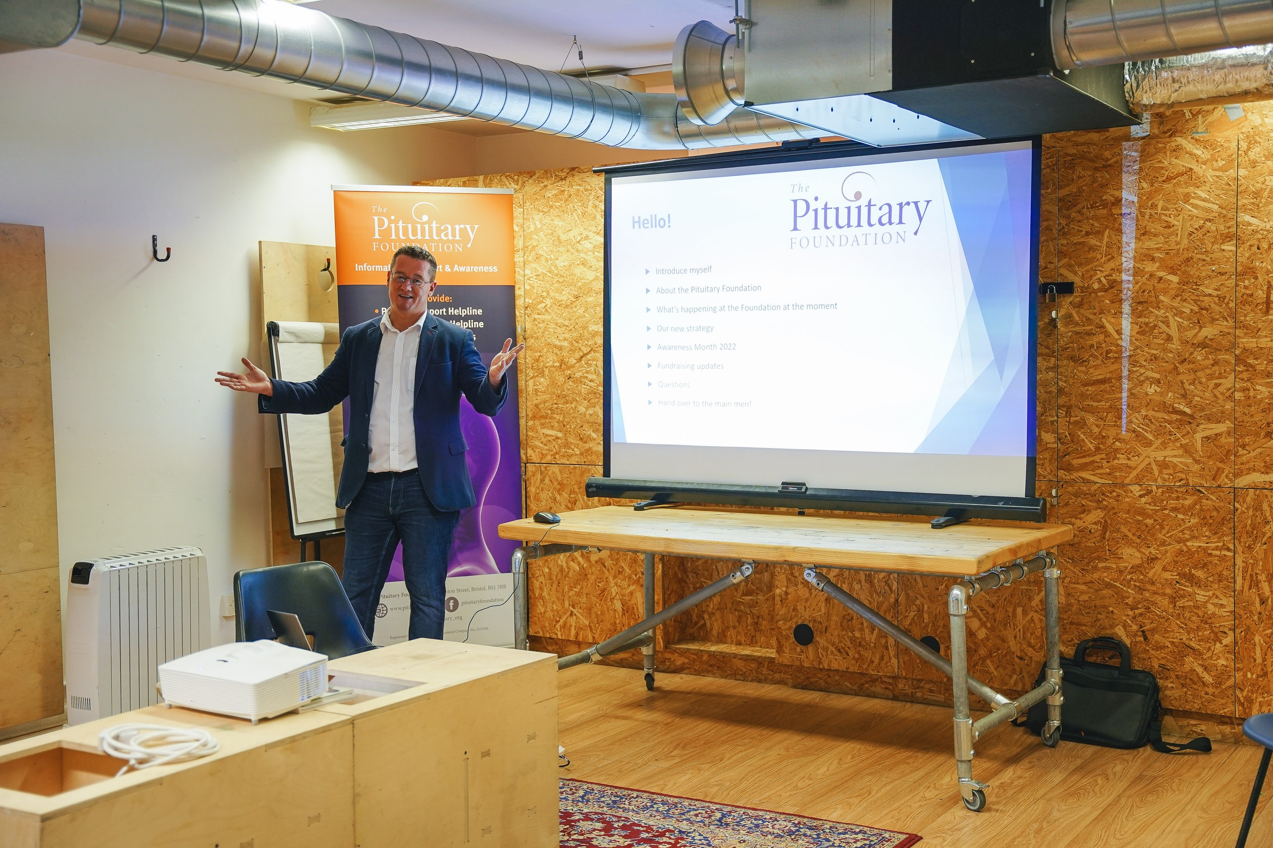
POLYGON ((1037 146, 607 175, 611 478, 1034 496, 1037 146))

